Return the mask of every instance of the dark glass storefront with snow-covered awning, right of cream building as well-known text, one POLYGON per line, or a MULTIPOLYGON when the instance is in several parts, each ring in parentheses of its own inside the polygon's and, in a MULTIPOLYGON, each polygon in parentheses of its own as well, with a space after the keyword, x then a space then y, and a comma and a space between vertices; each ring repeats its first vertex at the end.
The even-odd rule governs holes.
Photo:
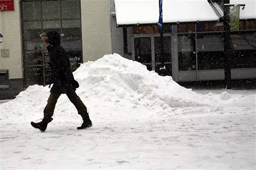
MULTIPOLYGON (((156 24, 158 1, 142 2, 115 1, 116 16, 112 18, 120 28, 127 30, 126 55, 146 65, 148 70, 172 76, 175 81, 225 79, 224 24, 220 4, 204 0, 191 1, 191 4, 183 0, 163 1, 166 67, 163 71, 160 70, 160 33, 156 24), (170 11, 176 11, 176 15, 170 11)), ((228 64, 231 79, 255 79, 256 2, 230 0, 230 3, 246 3, 245 9, 240 10, 240 29, 230 35, 232 54, 228 64)))

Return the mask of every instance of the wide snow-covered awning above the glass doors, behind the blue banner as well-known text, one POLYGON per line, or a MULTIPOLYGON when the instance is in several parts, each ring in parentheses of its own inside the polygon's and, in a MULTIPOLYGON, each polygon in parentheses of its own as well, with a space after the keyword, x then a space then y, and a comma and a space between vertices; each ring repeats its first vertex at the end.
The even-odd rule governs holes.
MULTIPOLYGON (((159 0, 114 0, 118 25, 153 24, 159 0)), ((163 0, 163 23, 218 21, 207 0, 163 0)))

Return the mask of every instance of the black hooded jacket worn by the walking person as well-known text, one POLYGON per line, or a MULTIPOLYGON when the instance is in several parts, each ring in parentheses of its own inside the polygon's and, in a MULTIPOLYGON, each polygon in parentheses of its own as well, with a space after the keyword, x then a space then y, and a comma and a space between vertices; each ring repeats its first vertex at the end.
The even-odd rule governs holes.
POLYGON ((50 31, 47 34, 50 46, 47 47, 50 53, 51 61, 51 79, 53 86, 51 93, 66 93, 70 90, 76 90, 72 85, 74 80, 73 73, 70 69, 69 57, 66 51, 60 46, 60 35, 56 31, 50 31))

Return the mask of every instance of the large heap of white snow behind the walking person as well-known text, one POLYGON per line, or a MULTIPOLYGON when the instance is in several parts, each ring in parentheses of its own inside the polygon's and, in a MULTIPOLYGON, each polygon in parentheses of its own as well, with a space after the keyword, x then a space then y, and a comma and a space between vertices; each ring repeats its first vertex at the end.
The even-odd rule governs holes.
MULTIPOLYGON (((74 72, 80 87, 78 96, 88 110, 96 114, 171 113, 177 107, 205 106, 217 103, 210 95, 202 95, 178 85, 172 77, 161 77, 145 65, 118 54, 105 55, 96 62, 82 64, 74 72), (152 112, 153 111, 153 112, 152 112)), ((29 86, 16 99, 0 106, 1 117, 42 117, 49 97, 48 86, 29 86)), ((230 98, 228 93, 222 99, 230 98)), ((56 112, 77 116, 75 107, 65 95, 60 96, 56 112)), ((149 116, 149 115, 148 115, 149 116)), ((152 115, 151 115, 152 116, 152 115)), ((23 119, 22 119, 23 120, 23 119)))

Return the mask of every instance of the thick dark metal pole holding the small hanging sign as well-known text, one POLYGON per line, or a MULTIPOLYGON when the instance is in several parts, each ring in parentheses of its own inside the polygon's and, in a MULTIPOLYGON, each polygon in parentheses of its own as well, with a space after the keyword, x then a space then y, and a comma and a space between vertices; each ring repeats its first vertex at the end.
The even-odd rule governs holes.
MULTIPOLYGON (((229 4, 225 0, 224 4, 229 4)), ((231 89, 231 42, 230 42, 230 6, 224 5, 224 64, 225 64, 225 86, 231 89)))

